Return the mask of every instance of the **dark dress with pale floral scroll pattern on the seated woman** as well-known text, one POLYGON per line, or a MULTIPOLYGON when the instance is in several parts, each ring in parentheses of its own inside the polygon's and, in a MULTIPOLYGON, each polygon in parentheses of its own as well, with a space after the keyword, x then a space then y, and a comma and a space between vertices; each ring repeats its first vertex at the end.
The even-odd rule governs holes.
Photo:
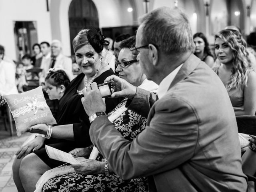
MULTIPOLYGON (((111 115, 116 110, 126 104, 124 99, 116 108, 110 112, 111 115)), ((146 127, 146 118, 137 113, 126 110, 113 122, 115 128, 127 140, 133 140, 146 127)), ((105 161, 105 158, 99 154, 99 161, 105 161)), ((65 165, 62 165, 65 166, 65 165)), ((147 178, 136 178, 131 180, 122 180, 116 174, 110 176, 105 174, 84 175, 78 172, 65 174, 52 178, 44 184, 43 192, 147 192, 147 178)))

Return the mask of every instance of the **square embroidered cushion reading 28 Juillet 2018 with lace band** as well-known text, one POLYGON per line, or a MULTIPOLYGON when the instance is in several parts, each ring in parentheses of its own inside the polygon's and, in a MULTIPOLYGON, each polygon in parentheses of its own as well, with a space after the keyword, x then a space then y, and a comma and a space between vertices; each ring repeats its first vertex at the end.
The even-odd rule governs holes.
POLYGON ((3 95, 3 97, 12 112, 18 136, 36 124, 56 124, 46 104, 42 86, 20 94, 3 95))

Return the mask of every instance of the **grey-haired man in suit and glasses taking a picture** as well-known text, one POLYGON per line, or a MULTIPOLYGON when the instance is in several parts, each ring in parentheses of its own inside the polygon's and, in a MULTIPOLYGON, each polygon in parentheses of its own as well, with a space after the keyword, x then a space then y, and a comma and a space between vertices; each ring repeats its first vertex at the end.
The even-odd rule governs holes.
POLYGON ((159 99, 118 77, 106 79, 115 87, 112 97, 125 96, 126 107, 148 116, 145 130, 128 141, 98 113, 105 106, 93 83, 82 99, 92 121, 91 140, 121 178, 148 176, 150 191, 246 191, 228 93, 193 50, 190 25, 180 10, 164 7, 143 16, 132 51, 139 52, 147 79, 159 84, 159 99))

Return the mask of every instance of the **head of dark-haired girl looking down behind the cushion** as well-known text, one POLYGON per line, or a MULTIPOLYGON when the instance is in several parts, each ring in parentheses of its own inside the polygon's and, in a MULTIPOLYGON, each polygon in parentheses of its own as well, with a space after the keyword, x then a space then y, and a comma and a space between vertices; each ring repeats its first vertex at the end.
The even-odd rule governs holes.
POLYGON ((45 78, 46 93, 50 100, 60 100, 69 83, 70 78, 64 70, 50 70, 45 78))

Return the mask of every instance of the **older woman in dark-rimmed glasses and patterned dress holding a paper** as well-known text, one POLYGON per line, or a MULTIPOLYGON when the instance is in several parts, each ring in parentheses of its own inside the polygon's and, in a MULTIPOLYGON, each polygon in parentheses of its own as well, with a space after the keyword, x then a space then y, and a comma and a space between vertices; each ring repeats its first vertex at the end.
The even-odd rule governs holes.
MULTIPOLYGON (((135 36, 123 40, 120 44, 122 50, 116 62, 119 76, 134 86, 154 91, 158 87, 154 82, 148 81, 136 60, 136 55, 130 51, 135 46, 135 36)), ((108 114, 120 134, 127 140, 133 140, 146 126, 146 118, 125 108, 124 99, 112 112, 108 114)), ((74 157, 89 156, 91 148, 72 150, 74 157)), ((65 165, 64 165, 65 166, 65 165)), ((76 172, 52 178, 43 186, 44 192, 60 191, 116 191, 116 192, 146 192, 148 183, 146 178, 122 180, 112 172, 108 161, 99 154, 96 160, 87 159, 80 164, 71 165, 76 172)), ((56 173, 58 174, 58 173, 56 173)), ((41 179, 40 179, 41 180, 41 179)), ((43 179, 42 179, 43 180, 43 179)), ((40 191, 40 188, 38 188, 40 191)))

